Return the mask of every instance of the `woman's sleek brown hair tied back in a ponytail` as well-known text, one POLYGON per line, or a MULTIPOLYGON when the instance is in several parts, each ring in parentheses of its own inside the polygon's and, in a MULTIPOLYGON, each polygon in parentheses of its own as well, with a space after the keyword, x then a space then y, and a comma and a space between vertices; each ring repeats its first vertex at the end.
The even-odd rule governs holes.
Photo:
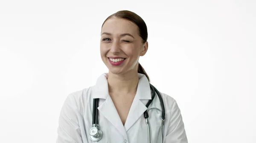
MULTIPOLYGON (((127 11, 127 10, 124 10, 124 11, 117 11, 116 13, 112 14, 111 16, 109 16, 102 24, 102 27, 104 25, 104 23, 110 19, 111 17, 118 17, 118 18, 124 18, 126 20, 129 20, 131 22, 133 22, 134 24, 136 24, 138 27, 139 27, 139 35, 140 37, 143 39, 143 43, 145 43, 148 39, 148 29, 147 29, 147 25, 146 23, 144 22, 144 20, 137 14, 135 14, 134 12, 131 12, 131 11, 127 11)), ((148 77, 148 74, 145 72, 144 68, 141 66, 141 64, 139 63, 138 65, 138 73, 141 73, 141 74, 144 74, 148 81, 150 82, 149 80, 149 77, 148 77)))

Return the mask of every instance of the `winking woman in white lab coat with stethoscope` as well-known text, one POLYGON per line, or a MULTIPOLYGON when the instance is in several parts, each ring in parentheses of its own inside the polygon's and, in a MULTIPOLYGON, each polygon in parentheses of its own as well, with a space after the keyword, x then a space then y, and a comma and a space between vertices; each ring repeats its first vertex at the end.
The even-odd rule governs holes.
POLYGON ((147 37, 145 22, 131 11, 118 11, 105 20, 100 54, 109 72, 102 74, 95 86, 68 95, 59 117, 57 143, 95 143, 99 138, 98 143, 149 143, 148 122, 151 143, 187 143, 175 99, 159 94, 165 107, 163 132, 158 95, 145 106, 153 92, 138 60, 148 50, 147 37), (95 105, 93 110, 95 98, 99 98, 98 108, 95 105), (98 138, 95 128, 91 129, 93 121, 99 124, 98 138))

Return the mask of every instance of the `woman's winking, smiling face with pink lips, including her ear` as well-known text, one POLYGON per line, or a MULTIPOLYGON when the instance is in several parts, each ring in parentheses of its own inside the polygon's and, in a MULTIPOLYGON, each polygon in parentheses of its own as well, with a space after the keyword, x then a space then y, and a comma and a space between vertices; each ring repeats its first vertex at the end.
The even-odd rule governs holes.
POLYGON ((116 17, 108 19, 102 26, 100 54, 109 72, 137 72, 139 57, 148 49, 148 42, 142 41, 133 22, 116 17))

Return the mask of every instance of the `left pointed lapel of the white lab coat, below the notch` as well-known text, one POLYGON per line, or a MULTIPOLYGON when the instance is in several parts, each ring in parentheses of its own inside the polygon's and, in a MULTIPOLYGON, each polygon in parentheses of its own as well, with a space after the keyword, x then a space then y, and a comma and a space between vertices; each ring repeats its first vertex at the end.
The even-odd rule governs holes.
POLYGON ((126 137, 126 131, 110 96, 98 107, 99 112, 126 137))

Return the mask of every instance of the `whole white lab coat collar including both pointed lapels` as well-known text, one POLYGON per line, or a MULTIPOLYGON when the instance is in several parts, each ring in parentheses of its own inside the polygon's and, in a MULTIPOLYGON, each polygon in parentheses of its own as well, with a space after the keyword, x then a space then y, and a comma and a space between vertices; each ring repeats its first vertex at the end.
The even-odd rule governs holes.
POLYGON ((143 112, 147 110, 147 107, 143 104, 142 99, 151 99, 151 90, 148 79, 145 75, 138 73, 139 83, 137 87, 137 93, 134 97, 134 101, 131 105, 125 126, 116 111, 116 107, 113 104, 108 92, 108 73, 102 74, 93 87, 93 98, 103 98, 105 101, 99 105, 99 112, 106 118, 113 126, 120 132, 123 137, 127 137, 126 132, 131 126, 143 115, 143 112))

